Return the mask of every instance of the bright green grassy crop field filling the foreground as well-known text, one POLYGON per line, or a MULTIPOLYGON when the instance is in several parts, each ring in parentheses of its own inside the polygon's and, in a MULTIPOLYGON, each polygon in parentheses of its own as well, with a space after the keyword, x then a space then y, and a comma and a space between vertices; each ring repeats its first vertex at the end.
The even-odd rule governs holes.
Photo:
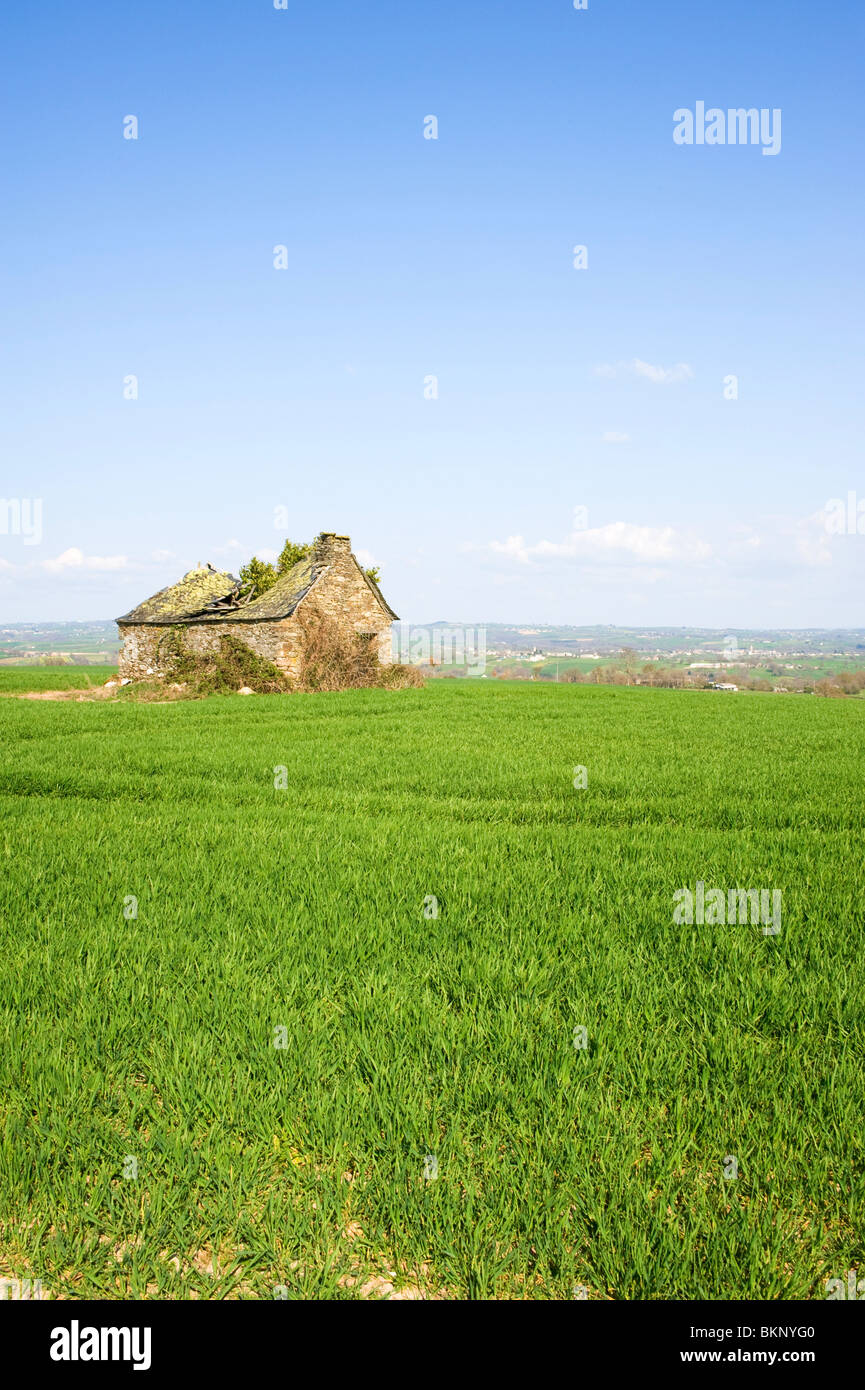
POLYGON ((861 1264, 862 702, 0 719, 0 1276, 791 1300, 861 1264), (779 890, 780 933, 676 924, 697 880, 779 890))

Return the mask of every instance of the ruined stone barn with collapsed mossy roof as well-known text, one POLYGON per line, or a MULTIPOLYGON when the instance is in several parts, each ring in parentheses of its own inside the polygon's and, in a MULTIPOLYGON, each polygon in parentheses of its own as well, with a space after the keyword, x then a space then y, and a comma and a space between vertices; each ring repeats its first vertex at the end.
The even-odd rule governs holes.
POLYGON ((239 638, 259 656, 296 677, 302 623, 318 620, 342 635, 360 632, 391 663, 391 623, 398 621, 374 580, 352 555, 348 535, 324 532, 310 555, 281 574, 273 588, 248 600, 241 581, 213 566, 189 570, 131 613, 117 619, 120 676, 140 680, 163 671, 165 638, 181 628, 193 652, 218 648, 220 637, 239 638))

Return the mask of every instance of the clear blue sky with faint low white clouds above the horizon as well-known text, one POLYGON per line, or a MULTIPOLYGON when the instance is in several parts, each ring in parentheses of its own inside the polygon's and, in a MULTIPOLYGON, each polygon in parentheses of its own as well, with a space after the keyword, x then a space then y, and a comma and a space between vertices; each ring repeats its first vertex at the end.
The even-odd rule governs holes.
POLYGON ((0 621, 332 530, 416 623, 861 626, 865 535, 823 509, 865 512, 864 31, 852 0, 7 13, 0 495, 42 534, 7 512, 0 621), (701 100, 780 108, 780 152, 677 146, 701 100))

